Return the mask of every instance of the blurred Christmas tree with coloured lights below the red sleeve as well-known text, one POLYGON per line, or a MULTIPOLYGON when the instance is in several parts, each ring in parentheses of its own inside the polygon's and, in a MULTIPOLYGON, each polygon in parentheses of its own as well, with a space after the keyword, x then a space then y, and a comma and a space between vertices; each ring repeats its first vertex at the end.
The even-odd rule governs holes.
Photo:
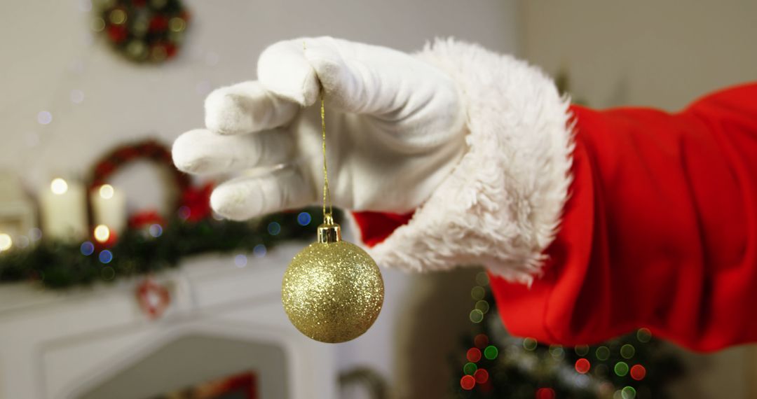
POLYGON ((474 333, 454 360, 461 378, 457 397, 510 399, 664 398, 665 385, 681 375, 681 361, 649 329, 601 345, 567 348, 509 336, 488 276, 471 290, 474 333))

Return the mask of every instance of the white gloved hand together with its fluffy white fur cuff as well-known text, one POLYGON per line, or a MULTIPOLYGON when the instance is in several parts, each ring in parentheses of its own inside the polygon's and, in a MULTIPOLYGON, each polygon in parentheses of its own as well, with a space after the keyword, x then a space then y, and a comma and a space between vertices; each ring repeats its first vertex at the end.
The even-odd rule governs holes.
POLYGON ((256 169, 213 192, 221 215, 244 219, 319 201, 320 82, 334 204, 415 209, 371 249, 378 264, 484 264, 523 283, 540 273, 572 155, 569 101, 540 70, 452 40, 410 56, 319 38, 268 48, 258 79, 210 94, 207 129, 173 147, 186 172, 256 169))

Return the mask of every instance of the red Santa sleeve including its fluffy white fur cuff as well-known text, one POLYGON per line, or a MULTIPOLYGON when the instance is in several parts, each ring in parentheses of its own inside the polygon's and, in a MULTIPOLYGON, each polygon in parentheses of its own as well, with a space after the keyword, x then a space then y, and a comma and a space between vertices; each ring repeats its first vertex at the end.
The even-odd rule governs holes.
MULTIPOLYGON (((439 64, 449 67, 444 61, 452 58, 466 67, 445 51, 439 64)), ((484 79, 497 95, 516 85, 528 101, 559 104, 551 92, 534 94, 512 76, 499 76, 506 83, 497 77, 484 79)), ((463 88, 471 93, 478 82, 463 88)), ((474 94, 491 101, 483 90, 474 94)), ((572 141, 570 128, 563 131, 566 141, 553 134, 561 122, 550 114, 555 110, 533 110, 509 95, 516 93, 500 98, 507 104, 499 111, 516 107, 520 117, 483 112, 469 98, 469 152, 484 143, 511 158, 494 168, 497 181, 481 177, 494 172, 483 163, 481 175, 466 169, 464 157, 463 172, 456 169, 451 187, 441 187, 443 198, 435 193, 415 215, 355 214, 380 264, 414 270, 484 264, 509 331, 543 342, 590 344, 642 326, 699 351, 757 342, 751 315, 757 303, 757 84, 709 95, 679 113, 562 109, 572 114, 572 141), (477 120, 497 114, 507 125, 477 120), (486 141, 491 135, 505 140, 486 141), (509 145, 526 153, 519 157, 509 145), (539 145, 551 150, 537 153, 532 146, 539 145), (519 163, 510 162, 514 158, 519 163), (474 188, 456 175, 475 181, 474 188), (539 179, 557 188, 550 191, 539 179), (456 196, 454 188, 463 194, 456 196), (555 205, 559 211, 552 214, 555 205)), ((490 155, 473 158, 494 162, 490 155)))

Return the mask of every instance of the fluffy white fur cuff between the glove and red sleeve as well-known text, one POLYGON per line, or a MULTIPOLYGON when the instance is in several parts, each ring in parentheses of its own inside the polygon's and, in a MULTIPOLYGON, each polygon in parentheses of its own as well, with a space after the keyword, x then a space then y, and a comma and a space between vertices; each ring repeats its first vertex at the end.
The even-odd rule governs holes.
POLYGON ((418 56, 458 83, 469 151, 372 255, 378 264, 413 271, 484 264, 507 280, 531 283, 571 182, 569 101, 537 68, 478 45, 438 40, 418 56))

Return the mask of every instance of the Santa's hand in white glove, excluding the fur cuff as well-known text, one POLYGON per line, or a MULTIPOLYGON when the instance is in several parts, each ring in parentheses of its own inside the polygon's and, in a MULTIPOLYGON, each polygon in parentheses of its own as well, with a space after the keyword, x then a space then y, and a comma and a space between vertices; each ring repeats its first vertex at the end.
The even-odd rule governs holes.
POLYGON ((294 39, 263 51, 257 75, 213 91, 206 128, 173 145, 182 171, 247 171, 210 197, 226 218, 319 202, 321 88, 335 206, 416 209, 466 150, 456 82, 417 57, 329 37, 294 39))

